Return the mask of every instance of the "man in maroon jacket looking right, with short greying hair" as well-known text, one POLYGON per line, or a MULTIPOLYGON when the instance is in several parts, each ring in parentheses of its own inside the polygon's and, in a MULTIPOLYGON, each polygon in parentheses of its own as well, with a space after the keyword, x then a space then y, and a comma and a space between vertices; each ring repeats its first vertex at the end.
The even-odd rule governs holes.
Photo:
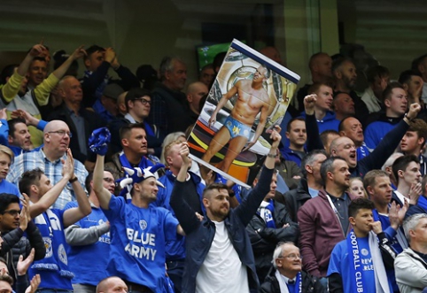
POLYGON ((324 189, 299 208, 298 220, 303 266, 325 284, 330 253, 351 227, 347 206, 353 196, 345 191, 350 186, 350 172, 344 158, 327 158, 321 175, 324 189))

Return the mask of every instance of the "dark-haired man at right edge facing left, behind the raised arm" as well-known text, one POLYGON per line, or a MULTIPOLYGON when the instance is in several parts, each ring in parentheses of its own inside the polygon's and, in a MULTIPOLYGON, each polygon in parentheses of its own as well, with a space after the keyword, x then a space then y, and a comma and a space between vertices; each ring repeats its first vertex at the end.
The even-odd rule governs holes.
POLYGON ((400 150, 405 155, 415 155, 420 161, 421 175, 427 174, 427 158, 422 154, 427 139, 427 123, 421 119, 411 120, 409 128, 400 141, 400 150))

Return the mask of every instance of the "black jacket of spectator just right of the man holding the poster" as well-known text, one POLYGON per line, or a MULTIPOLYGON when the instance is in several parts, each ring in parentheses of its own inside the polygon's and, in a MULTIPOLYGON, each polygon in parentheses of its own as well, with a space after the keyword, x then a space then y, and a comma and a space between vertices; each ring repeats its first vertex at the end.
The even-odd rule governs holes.
POLYGON ((266 222, 258 214, 255 214, 246 226, 260 282, 264 281, 272 267, 271 259, 277 243, 298 243, 299 228, 297 223, 291 220, 286 207, 276 201, 273 218, 276 228, 267 227, 266 222), (289 227, 283 227, 284 224, 289 224, 289 227))

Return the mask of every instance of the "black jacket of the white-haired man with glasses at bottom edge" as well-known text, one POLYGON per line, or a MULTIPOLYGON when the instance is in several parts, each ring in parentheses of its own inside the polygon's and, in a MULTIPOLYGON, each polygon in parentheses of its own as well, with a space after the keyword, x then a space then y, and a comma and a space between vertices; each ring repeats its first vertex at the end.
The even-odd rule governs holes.
MULTIPOLYGON (((280 293, 279 282, 276 278, 276 270, 271 269, 268 272, 266 281, 261 285, 260 293, 280 293)), ((327 293, 328 291, 323 287, 318 278, 308 274, 304 271, 301 272, 303 293, 327 293)))

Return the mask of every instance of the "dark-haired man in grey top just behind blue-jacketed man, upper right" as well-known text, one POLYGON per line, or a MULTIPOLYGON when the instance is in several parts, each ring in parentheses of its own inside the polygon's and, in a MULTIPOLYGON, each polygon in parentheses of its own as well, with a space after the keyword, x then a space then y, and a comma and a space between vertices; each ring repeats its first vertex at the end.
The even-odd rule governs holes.
POLYGON ((382 110, 383 92, 390 83, 390 71, 384 66, 372 66, 368 69, 367 80, 369 88, 361 96, 361 100, 366 104, 369 113, 382 110))

